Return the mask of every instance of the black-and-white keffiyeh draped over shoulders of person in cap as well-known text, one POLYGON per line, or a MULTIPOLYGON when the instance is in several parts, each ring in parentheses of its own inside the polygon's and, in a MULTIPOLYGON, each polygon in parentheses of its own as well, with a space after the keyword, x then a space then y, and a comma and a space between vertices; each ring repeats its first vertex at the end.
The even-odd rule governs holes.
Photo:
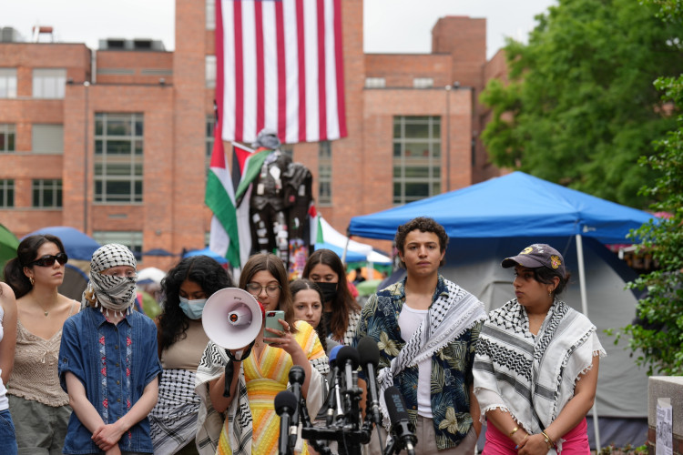
POLYGON ((529 434, 540 433, 574 397, 579 375, 605 357, 596 327, 583 314, 555 300, 536 336, 525 308, 514 298, 484 324, 474 359, 474 394, 482 420, 505 410, 529 434))

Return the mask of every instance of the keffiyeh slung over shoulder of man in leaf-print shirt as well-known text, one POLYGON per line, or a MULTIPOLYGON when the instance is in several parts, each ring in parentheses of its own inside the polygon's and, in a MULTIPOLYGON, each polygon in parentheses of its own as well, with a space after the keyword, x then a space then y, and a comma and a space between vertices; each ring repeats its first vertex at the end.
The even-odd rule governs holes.
MULTIPOLYGON (((427 318, 415 330, 413 337, 399 351, 398 356, 392 359, 391 367, 381 369, 378 374, 382 423, 387 430, 390 427, 390 420, 384 401, 384 390, 393 385, 394 376, 424 359, 431 359, 434 353, 460 337, 467 329, 472 329, 475 323, 486 319, 482 302, 455 283, 447 279, 443 282, 448 292, 436 298, 429 308, 427 318)), ((389 301, 387 304, 391 305, 389 301)), ((382 311, 382 308, 378 310, 382 311)), ((384 310, 384 314, 392 314, 393 309, 389 310, 389 313, 384 310)), ((398 321, 396 323, 398 324, 398 321)))

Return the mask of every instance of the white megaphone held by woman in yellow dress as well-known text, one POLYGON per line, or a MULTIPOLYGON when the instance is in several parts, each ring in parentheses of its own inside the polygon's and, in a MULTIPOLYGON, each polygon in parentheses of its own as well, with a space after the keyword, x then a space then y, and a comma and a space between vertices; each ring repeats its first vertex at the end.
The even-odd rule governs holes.
POLYGON ((261 333, 262 324, 260 303, 240 288, 214 292, 201 315, 201 325, 207 336, 223 349, 249 345, 261 333))

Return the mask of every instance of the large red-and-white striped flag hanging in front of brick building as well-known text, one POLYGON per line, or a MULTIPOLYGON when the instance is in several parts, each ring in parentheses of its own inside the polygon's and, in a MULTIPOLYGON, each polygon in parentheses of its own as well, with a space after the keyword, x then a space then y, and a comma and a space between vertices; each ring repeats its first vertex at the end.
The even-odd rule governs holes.
POLYGON ((347 135, 342 0, 220 0, 216 25, 223 140, 264 127, 287 144, 347 135))

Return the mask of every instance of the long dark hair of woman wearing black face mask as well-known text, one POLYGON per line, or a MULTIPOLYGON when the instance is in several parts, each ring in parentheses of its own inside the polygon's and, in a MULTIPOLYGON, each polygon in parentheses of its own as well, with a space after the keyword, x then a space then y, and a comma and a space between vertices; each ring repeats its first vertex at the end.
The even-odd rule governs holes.
POLYGON ((311 254, 303 268, 303 278, 311 279, 311 270, 318 264, 329 266, 339 277, 337 282, 337 297, 331 302, 332 314, 330 319, 330 329, 333 339, 343 339, 344 332, 349 327, 349 313, 360 311, 361 306, 352 298, 349 291, 349 284, 346 279, 346 270, 342 264, 342 259, 331 249, 318 249, 311 254))

